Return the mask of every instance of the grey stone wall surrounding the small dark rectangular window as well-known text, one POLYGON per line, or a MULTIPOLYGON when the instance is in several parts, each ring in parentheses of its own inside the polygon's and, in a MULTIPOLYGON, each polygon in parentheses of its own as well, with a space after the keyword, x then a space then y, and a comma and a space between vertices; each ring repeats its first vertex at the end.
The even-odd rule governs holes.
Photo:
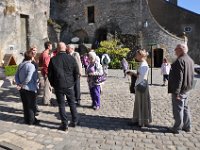
MULTIPOLYGON (((78 30, 87 32, 89 42, 95 38, 99 28, 106 28, 107 32, 120 34, 137 34, 140 19, 139 1, 132 0, 96 0, 74 1, 57 3, 51 0, 51 18, 57 22, 67 24, 62 31, 65 42, 74 36, 78 30), (95 7, 95 22, 88 23, 87 7, 95 7), (131 10, 131 11, 130 11, 131 10), (71 36, 67 38, 67 35, 71 36)), ((61 35, 62 36, 62 35, 61 35)))

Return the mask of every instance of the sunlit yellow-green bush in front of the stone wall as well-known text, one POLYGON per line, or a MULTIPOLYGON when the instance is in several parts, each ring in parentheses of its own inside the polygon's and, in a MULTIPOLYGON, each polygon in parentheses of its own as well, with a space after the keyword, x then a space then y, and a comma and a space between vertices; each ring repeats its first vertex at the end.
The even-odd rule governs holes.
POLYGON ((122 58, 126 57, 127 53, 130 51, 129 48, 123 48, 118 45, 118 43, 119 41, 117 40, 102 41, 100 47, 96 49, 98 55, 101 56, 107 53, 110 56, 111 62, 109 67, 111 69, 119 69, 122 58))

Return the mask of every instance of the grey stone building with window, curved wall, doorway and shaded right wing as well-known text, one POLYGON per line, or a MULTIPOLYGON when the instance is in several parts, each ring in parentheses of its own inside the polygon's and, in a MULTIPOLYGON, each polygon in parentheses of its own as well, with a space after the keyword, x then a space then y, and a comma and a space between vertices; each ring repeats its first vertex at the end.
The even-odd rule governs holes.
POLYGON ((73 37, 94 43, 118 36, 125 45, 152 48, 155 67, 163 57, 175 58, 173 50, 185 42, 185 31, 189 53, 200 61, 200 15, 178 7, 177 0, 51 0, 50 16, 61 26, 59 38, 66 43, 73 37))

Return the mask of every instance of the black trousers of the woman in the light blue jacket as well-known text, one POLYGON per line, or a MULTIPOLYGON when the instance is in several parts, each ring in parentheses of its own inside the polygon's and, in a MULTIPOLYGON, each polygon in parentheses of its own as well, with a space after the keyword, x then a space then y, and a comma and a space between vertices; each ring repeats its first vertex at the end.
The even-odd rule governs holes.
POLYGON ((24 89, 20 90, 20 97, 23 104, 24 110, 24 121, 27 124, 34 124, 35 118, 35 104, 36 104, 36 93, 32 91, 27 91, 24 89))

